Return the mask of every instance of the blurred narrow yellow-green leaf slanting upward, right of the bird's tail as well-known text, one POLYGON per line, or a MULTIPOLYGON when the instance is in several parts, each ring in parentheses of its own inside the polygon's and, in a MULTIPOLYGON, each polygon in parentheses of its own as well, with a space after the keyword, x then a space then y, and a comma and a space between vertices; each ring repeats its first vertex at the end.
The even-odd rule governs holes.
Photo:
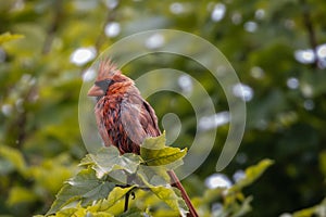
POLYGON ((240 191, 242 188, 251 184, 273 164, 274 162, 272 159, 263 159, 258 165, 248 167, 244 171, 244 178, 240 179, 235 186, 229 189, 229 191, 240 191))

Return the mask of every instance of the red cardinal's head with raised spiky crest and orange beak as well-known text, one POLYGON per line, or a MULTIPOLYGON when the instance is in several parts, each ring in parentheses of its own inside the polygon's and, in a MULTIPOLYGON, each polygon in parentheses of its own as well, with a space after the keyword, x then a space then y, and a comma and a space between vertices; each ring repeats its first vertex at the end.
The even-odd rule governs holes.
POLYGON ((89 89, 87 95, 100 99, 108 93, 112 85, 130 79, 122 75, 121 71, 110 60, 101 61, 95 85, 89 89))

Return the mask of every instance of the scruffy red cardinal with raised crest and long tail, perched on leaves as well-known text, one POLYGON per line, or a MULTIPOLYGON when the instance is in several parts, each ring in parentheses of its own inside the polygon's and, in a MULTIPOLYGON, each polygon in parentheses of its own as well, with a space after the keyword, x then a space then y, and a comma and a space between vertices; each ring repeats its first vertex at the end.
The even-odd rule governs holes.
MULTIPOLYGON (((147 137, 161 135, 154 110, 141 98, 134 81, 122 75, 109 60, 100 63, 98 77, 88 95, 97 97, 95 114, 104 144, 116 146, 121 154, 139 154, 139 145, 147 137)), ((175 173, 170 170, 168 175, 173 186, 181 192, 189 208, 188 216, 197 217, 198 214, 175 173)))

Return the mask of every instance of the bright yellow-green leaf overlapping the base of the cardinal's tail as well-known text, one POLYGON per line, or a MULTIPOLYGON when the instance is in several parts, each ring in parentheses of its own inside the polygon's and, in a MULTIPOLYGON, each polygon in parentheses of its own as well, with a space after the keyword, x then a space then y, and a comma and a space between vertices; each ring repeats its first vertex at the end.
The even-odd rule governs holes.
POLYGON ((140 156, 148 166, 170 165, 171 169, 179 166, 178 162, 187 154, 187 149, 165 146, 165 132, 160 137, 147 138, 140 148, 140 156))

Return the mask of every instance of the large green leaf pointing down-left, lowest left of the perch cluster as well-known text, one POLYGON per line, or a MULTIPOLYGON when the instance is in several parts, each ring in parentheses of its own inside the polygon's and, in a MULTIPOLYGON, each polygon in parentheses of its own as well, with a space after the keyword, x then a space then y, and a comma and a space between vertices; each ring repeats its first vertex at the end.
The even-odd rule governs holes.
POLYGON ((53 214, 75 201, 80 201, 85 206, 105 199, 114 187, 113 182, 98 179, 91 168, 83 169, 59 191, 48 214, 53 214))

